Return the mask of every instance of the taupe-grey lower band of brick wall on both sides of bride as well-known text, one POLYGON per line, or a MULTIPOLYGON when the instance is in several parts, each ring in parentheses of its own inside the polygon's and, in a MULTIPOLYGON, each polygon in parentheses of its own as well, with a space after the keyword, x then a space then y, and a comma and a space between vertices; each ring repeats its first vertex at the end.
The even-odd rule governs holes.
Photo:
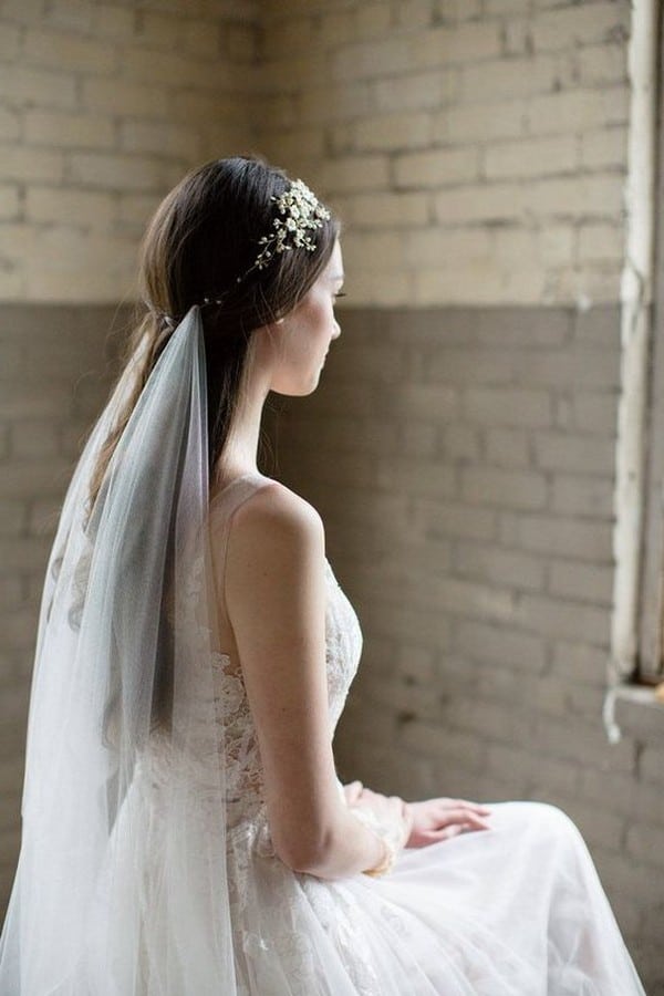
MULTIPOLYGON (((308 497, 364 652, 342 777, 540 799, 578 822, 664 993, 664 738, 601 724, 619 384, 614 308, 344 310, 321 382, 272 396, 261 469, 308 497)), ((39 599, 126 313, 0 309, 0 888, 20 834, 39 599)))

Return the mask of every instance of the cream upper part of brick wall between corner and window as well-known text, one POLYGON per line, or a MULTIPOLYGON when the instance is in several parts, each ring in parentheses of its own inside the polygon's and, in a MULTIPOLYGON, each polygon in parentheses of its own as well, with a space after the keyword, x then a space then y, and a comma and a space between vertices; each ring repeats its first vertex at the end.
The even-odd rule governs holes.
POLYGON ((347 222, 354 301, 615 301, 626 0, 268 0, 261 145, 347 222))

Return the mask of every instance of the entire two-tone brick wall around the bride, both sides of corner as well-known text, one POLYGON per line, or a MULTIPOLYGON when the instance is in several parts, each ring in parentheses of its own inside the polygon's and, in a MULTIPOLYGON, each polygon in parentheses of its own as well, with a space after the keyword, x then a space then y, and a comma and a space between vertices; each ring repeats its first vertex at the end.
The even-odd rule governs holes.
MULTIPOLYGON (((365 633, 340 768, 408 798, 563 806, 663 994, 661 727, 626 716, 610 747, 600 723, 630 4, 10 0, 0 15, 0 299, 131 297, 160 194, 247 143, 342 211, 352 307, 319 391, 279 400, 264 467, 321 510, 365 633)), ((113 317, 13 307, 3 888, 49 530, 113 317)))

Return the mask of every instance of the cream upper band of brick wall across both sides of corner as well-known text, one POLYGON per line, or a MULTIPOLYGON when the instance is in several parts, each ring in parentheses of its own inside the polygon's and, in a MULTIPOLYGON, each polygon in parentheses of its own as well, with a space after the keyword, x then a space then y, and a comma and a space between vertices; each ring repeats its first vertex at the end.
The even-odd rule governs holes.
POLYGON ((0 18, 0 298, 126 299, 164 191, 259 148, 344 216, 356 303, 618 299, 627 3, 34 0, 0 18), (77 247, 59 261, 70 228, 83 271, 77 247))

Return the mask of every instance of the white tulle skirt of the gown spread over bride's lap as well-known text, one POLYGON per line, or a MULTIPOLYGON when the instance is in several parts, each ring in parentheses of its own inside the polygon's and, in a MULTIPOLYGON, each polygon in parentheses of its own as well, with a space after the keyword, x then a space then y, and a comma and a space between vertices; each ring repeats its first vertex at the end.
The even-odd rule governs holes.
POLYGON ((560 809, 323 881, 255 849, 235 917, 243 996, 644 996, 585 843, 560 809))

